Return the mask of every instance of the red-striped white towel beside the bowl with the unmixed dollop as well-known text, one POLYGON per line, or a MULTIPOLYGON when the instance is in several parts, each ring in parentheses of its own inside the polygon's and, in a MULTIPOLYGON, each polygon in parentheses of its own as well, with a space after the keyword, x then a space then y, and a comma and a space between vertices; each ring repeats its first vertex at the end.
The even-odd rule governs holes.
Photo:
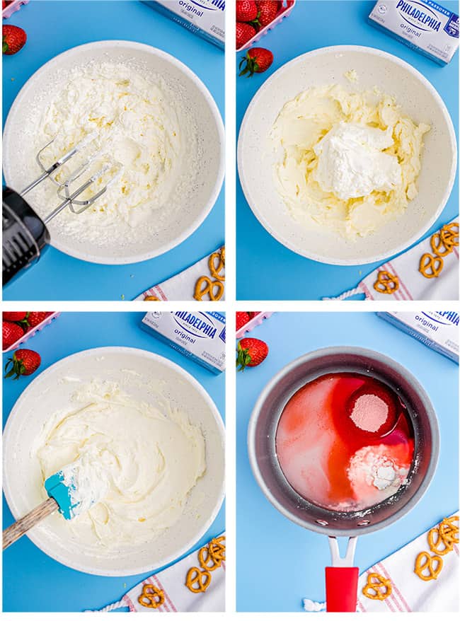
MULTIPOLYGON (((458 221, 452 220, 451 223, 458 221)), ((439 229, 440 230, 440 229, 439 229)), ((367 300, 458 300, 459 299, 459 248, 454 247, 452 253, 442 257, 443 267, 439 276, 426 278, 421 272, 420 257, 425 253, 432 254, 430 237, 410 248, 406 253, 387 261, 350 291, 335 298, 323 300, 345 300, 357 294, 364 294, 367 300), (381 294, 374 289, 379 272, 389 272, 398 279, 398 291, 393 294, 381 294)))

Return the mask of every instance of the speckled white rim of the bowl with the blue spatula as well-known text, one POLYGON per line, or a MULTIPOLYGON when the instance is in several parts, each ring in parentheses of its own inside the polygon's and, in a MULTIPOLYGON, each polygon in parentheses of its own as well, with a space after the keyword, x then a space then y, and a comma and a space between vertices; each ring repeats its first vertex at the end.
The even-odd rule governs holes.
MULTIPOLYGON (((222 420, 222 417, 214 401, 207 393, 207 390, 205 390, 205 388, 202 387, 199 381, 197 381, 192 375, 190 375, 188 371, 185 371, 185 369, 183 369, 180 365, 176 364, 176 362, 173 362, 169 360, 168 358, 165 358, 164 356, 160 356, 159 354, 154 354, 154 352, 149 352, 146 349, 140 349, 138 347, 121 347, 121 346, 120 347, 119 346, 93 347, 91 349, 83 349, 81 352, 69 354, 69 356, 65 356, 64 358, 58 360, 57 362, 54 362, 54 364, 52 364, 48 368, 45 368, 45 371, 42 371, 42 373, 40 373, 40 375, 34 378, 34 380, 30 382, 27 388, 23 390, 23 392, 21 393, 21 395, 19 395, 18 399, 13 405, 11 412, 8 414, 8 419, 6 421, 6 425, 5 425, 4 433, 3 433, 4 446, 7 446, 8 444, 8 437, 9 437, 10 430, 11 430, 11 421, 13 420, 13 418, 18 416, 18 411, 21 410, 21 406, 25 398, 27 397, 28 393, 30 392, 30 387, 33 385, 33 383, 35 383, 39 378, 52 375, 54 371, 56 371, 57 368, 59 368, 59 366, 62 363, 64 363, 65 361, 68 361, 69 359, 85 358, 86 356, 103 356, 105 354, 113 354, 113 353, 135 354, 137 356, 154 359, 156 361, 159 361, 161 364, 164 364, 165 366, 168 366, 169 368, 173 369, 173 371, 180 373, 180 375, 182 375, 183 378, 186 381, 188 381, 193 386, 193 388, 197 390, 198 393, 200 393, 200 395, 203 397, 205 402, 207 402, 207 405, 209 406, 209 410, 212 412, 212 415, 217 423, 217 429, 219 430, 219 434, 222 439, 222 444, 223 446, 225 446, 224 422, 222 420)), ((5 473, 5 470, 6 469, 4 468, 4 473, 5 473)), ((3 486, 4 486, 4 494, 5 494, 6 502, 8 504, 8 508, 13 514, 13 518, 15 518, 15 520, 18 520, 22 516, 18 515, 16 504, 14 502, 14 494, 11 492, 11 487, 9 487, 8 480, 6 477, 4 477, 3 486)), ((219 509, 222 506, 222 502, 224 501, 224 496, 225 496, 225 480, 223 478, 222 484, 219 490, 219 497, 214 506, 214 509, 209 514, 207 521, 205 521, 202 528, 200 528, 200 530, 198 531, 197 535, 195 535, 195 537, 192 540, 190 540, 186 545, 181 547, 180 550, 178 550, 177 552, 174 552, 174 554, 171 554, 168 557, 164 557, 164 559, 161 559, 161 565, 159 565, 158 567, 164 567, 165 565, 171 564, 172 562, 176 561, 176 559, 183 556, 185 552, 188 552, 188 550, 190 550, 190 548, 192 548, 196 544, 196 542, 200 540, 203 535, 205 535, 208 528, 214 522, 214 519, 216 518, 217 513, 219 512, 219 509)), ((104 570, 102 572, 100 569, 95 570, 94 568, 92 568, 91 564, 87 565, 84 563, 76 563, 76 562, 69 564, 67 561, 64 561, 61 555, 54 553, 52 550, 46 549, 46 547, 43 546, 40 541, 40 535, 37 535, 36 533, 34 533, 33 530, 29 530, 28 533, 25 533, 25 535, 42 552, 44 552, 45 555, 51 557, 52 559, 65 565, 66 567, 70 567, 71 569, 76 569, 76 571, 83 571, 85 574, 93 574, 96 576, 128 576, 128 575, 136 576, 137 574, 144 574, 146 571, 154 571, 155 569, 157 569, 156 566, 152 566, 151 564, 146 564, 146 565, 142 565, 138 567, 135 573, 126 574, 123 571, 110 570, 110 569, 104 570)))

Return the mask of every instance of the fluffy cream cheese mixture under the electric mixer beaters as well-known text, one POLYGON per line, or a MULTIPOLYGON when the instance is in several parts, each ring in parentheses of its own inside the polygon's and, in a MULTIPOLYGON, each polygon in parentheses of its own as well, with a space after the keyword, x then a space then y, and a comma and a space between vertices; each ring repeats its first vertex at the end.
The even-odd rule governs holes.
MULTIPOLYGON (((59 233, 100 246, 122 245, 161 231, 168 211, 197 174, 196 124, 183 95, 158 75, 126 64, 91 63, 69 71, 35 132, 36 151, 49 166, 79 144, 85 148, 59 169, 63 182, 88 159, 88 173, 108 166, 91 187, 105 194, 83 214, 64 209, 52 221, 59 233)), ((74 182, 90 176, 84 173, 74 182)), ((45 216, 57 204, 57 186, 40 185, 34 204, 45 216)), ((88 195, 85 196, 88 197, 88 195)))

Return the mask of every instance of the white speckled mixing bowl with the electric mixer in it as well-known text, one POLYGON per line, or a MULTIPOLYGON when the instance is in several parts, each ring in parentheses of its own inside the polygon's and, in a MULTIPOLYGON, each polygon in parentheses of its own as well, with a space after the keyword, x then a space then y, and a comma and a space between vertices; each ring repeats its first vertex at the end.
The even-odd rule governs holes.
MULTIPOLYGON (((14 101, 4 129, 4 175, 6 184, 22 190, 33 179, 26 178, 25 162, 35 162, 36 152, 28 137, 30 129, 62 88, 62 75, 88 62, 138 64, 143 71, 159 74, 168 87, 180 93, 182 105, 197 127, 200 152, 197 180, 178 198, 180 204, 165 204, 155 212, 161 216, 161 231, 139 241, 104 246, 69 238, 51 221, 51 243, 58 250, 85 261, 105 264, 135 263, 166 253, 188 238, 202 224, 217 199, 224 178, 224 126, 214 99, 200 79, 185 64, 150 45, 132 41, 98 41, 73 47, 44 64, 25 83, 14 101)), ((28 167, 30 168, 30 166, 28 167)), ((37 175, 40 173, 36 167, 37 175)), ((50 183, 50 181, 45 181, 50 183)), ((183 185, 183 183, 181 183, 183 185)), ((60 201, 46 205, 52 211, 60 201)), ((33 206, 33 203, 32 203, 33 206)))

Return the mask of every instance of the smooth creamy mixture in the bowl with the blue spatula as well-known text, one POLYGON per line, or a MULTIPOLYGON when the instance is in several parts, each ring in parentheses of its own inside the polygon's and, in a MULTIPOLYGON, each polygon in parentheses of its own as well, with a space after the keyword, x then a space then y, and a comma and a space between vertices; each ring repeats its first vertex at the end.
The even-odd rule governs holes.
POLYGON ((115 382, 81 385, 71 401, 35 443, 43 480, 78 460, 72 500, 100 497, 65 527, 90 547, 151 542, 180 518, 205 473, 200 427, 166 403, 161 411, 135 400, 115 382))

